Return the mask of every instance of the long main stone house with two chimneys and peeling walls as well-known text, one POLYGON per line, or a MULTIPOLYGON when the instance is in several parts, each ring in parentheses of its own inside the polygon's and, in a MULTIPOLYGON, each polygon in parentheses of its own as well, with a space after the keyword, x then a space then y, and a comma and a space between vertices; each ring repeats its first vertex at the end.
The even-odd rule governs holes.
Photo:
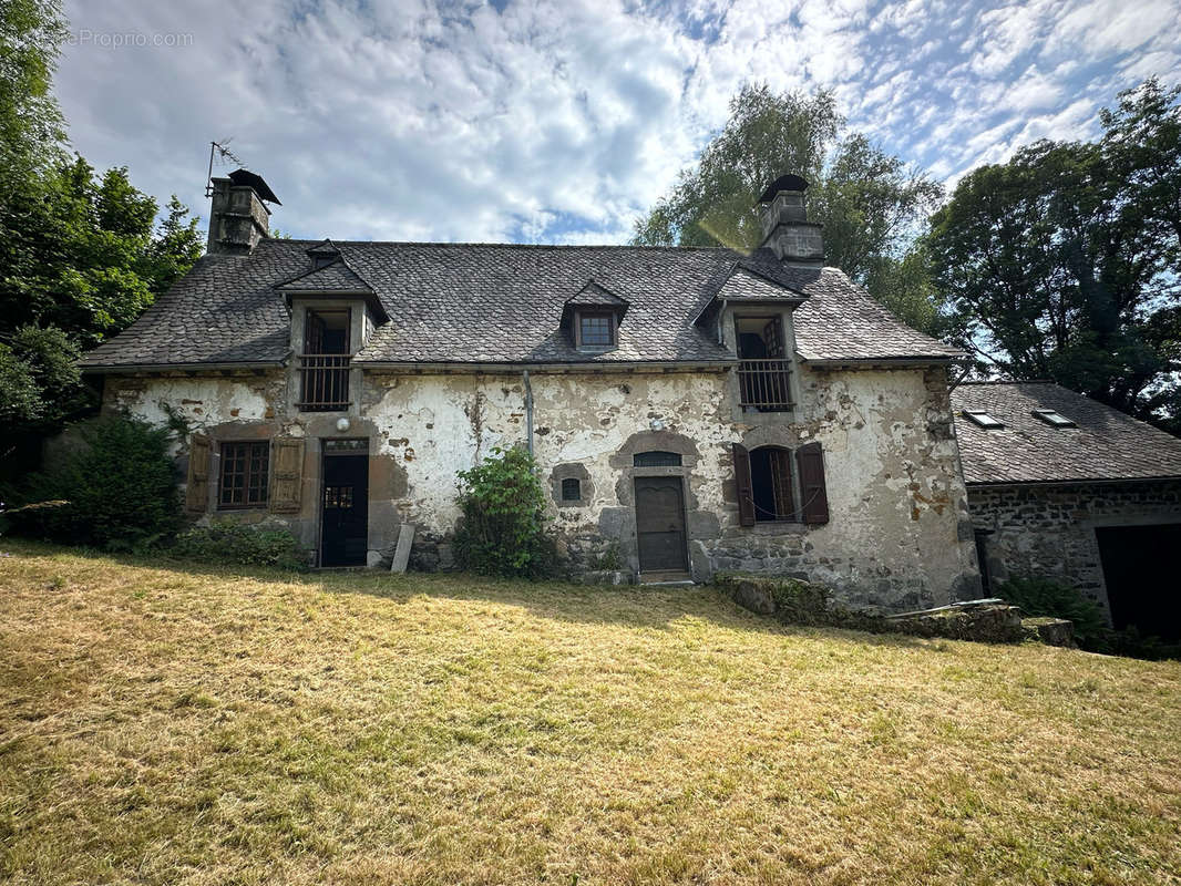
POLYGON ((958 352, 823 263, 807 183, 726 248, 270 239, 214 180, 208 255, 85 357, 104 409, 183 418, 197 520, 281 525, 321 566, 446 567, 456 471, 528 447, 573 572, 790 573, 850 601, 979 589, 958 352))

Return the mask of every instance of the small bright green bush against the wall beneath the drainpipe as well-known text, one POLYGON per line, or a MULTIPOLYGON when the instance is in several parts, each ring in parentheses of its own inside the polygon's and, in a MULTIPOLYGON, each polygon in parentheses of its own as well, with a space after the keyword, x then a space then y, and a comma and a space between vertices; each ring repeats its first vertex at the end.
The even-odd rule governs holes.
POLYGON ((552 575, 557 558, 544 533, 544 503, 533 456, 521 447, 492 449, 475 468, 459 471, 456 560, 483 575, 552 575))

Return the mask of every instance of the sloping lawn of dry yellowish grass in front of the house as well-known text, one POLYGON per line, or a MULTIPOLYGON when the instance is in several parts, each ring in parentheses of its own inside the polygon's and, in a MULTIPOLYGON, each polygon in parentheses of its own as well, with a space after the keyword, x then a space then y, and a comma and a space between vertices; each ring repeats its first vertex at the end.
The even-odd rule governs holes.
POLYGON ((1175 662, 4 549, 12 882, 1179 881, 1175 662))

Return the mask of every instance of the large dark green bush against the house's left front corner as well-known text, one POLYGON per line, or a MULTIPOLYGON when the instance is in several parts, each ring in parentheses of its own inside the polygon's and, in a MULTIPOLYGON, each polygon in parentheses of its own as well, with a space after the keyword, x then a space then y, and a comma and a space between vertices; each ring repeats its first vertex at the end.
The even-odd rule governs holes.
POLYGON ((170 538, 181 526, 170 431, 100 418, 79 434, 79 444, 33 475, 20 494, 25 502, 67 503, 15 515, 15 530, 109 551, 139 551, 170 538))

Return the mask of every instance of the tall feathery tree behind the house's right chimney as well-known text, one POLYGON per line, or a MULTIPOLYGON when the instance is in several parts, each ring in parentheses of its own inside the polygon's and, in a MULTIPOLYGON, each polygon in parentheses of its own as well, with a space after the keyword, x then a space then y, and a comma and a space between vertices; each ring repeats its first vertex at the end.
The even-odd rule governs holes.
POLYGON ((638 220, 633 242, 730 246, 762 241, 755 201, 791 171, 810 182, 809 213, 824 224, 826 260, 842 268, 907 323, 934 331, 938 311, 926 255, 912 250, 919 223, 942 189, 868 138, 841 138, 833 93, 775 93, 748 85, 730 119, 693 169, 638 220))

